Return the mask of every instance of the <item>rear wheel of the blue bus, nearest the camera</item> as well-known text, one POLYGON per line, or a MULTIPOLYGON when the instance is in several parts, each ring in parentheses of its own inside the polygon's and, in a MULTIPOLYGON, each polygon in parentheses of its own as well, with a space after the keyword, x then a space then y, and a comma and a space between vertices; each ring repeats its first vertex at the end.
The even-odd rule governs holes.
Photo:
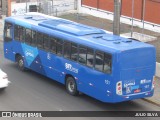
POLYGON ((70 95, 77 96, 79 92, 77 91, 77 84, 73 77, 67 77, 66 79, 66 90, 70 95))

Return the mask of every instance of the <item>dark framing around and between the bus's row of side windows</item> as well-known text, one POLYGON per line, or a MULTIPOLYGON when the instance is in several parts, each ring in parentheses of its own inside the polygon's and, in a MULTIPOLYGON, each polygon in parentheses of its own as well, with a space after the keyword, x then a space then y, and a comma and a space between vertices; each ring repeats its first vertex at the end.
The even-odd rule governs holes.
MULTIPOLYGON (((17 25, 18 26, 18 25, 17 25)), ((19 26, 19 27, 22 27, 22 26, 19 26)), ((26 35, 26 29, 28 29, 28 28, 25 28, 25 27, 23 27, 23 29, 25 29, 25 35, 26 35)), ((94 48, 91 48, 91 47, 88 47, 88 46, 85 46, 85 45, 82 45, 82 44, 78 44, 78 43, 74 43, 74 42, 71 42, 71 41, 69 41, 69 40, 64 40, 64 39, 60 39, 60 38, 58 38, 58 37, 55 37, 55 36, 51 36, 51 35, 49 35, 49 34, 45 34, 45 33, 43 33, 43 32, 39 32, 39 31, 35 31, 35 30, 32 30, 32 29, 29 29, 29 30, 31 30, 31 37, 32 37, 32 40, 31 40, 31 42, 30 43, 28 43, 28 42, 26 42, 26 39, 25 39, 25 43, 26 44, 29 44, 29 45, 31 45, 31 46, 35 46, 35 47, 37 47, 38 49, 43 49, 43 50, 45 50, 46 52, 51 52, 51 53, 53 53, 53 54, 56 54, 57 56, 60 56, 60 57, 63 57, 64 59, 68 59, 68 60, 70 60, 70 61, 73 61, 73 62, 77 62, 77 63, 79 63, 79 64, 81 64, 81 65, 83 65, 83 66, 86 66, 86 67, 89 67, 90 69, 94 69, 94 70, 96 70, 96 71, 99 71, 99 72, 102 72, 102 73, 105 73, 105 74, 111 74, 112 73, 112 54, 110 54, 110 53, 107 53, 107 52, 103 52, 103 51, 101 51, 101 50, 95 50, 94 48), (36 42, 35 42, 35 44, 33 44, 33 33, 36 33, 36 42), (40 37, 38 34, 41 34, 42 35, 42 37, 40 37), (48 46, 47 47, 45 47, 45 36, 47 36, 48 37, 48 46), (41 38, 41 45, 39 44, 39 42, 38 42, 38 37, 39 38, 41 38), (54 40, 54 50, 53 49, 51 49, 52 48, 52 40, 54 40), (59 43, 58 43, 59 42, 59 43), (65 57, 65 43, 69 43, 70 44, 70 57, 68 58, 68 57, 65 57), (59 54, 58 53, 58 49, 59 49, 59 46, 58 45, 60 45, 61 46, 61 53, 59 54), (76 59, 74 60, 74 59, 72 59, 72 46, 76 46, 76 49, 77 49, 77 53, 75 53, 75 54, 77 54, 77 57, 76 57, 76 59), (85 60, 85 63, 82 63, 82 62, 80 62, 79 61, 79 58, 80 58, 80 49, 81 48, 83 48, 83 50, 85 50, 85 58, 86 58, 86 60, 85 60), (89 52, 89 50, 92 50, 92 55, 93 55, 93 63, 92 63, 92 66, 90 66, 90 65, 88 65, 87 63, 88 63, 88 52, 89 52), (103 70, 99 70, 99 69, 97 69, 96 68, 96 53, 97 52, 101 52, 101 53, 103 53, 103 70), (110 61, 110 72, 105 72, 104 71, 104 65, 105 65, 105 61, 104 61, 104 59, 105 59, 105 55, 107 55, 107 56, 110 56, 111 57, 111 59, 108 59, 108 61, 110 61)), ((25 38, 26 38, 26 36, 25 36, 25 38)), ((18 41, 22 41, 22 40, 18 40, 18 41)), ((22 41, 23 42, 23 41, 22 41)))

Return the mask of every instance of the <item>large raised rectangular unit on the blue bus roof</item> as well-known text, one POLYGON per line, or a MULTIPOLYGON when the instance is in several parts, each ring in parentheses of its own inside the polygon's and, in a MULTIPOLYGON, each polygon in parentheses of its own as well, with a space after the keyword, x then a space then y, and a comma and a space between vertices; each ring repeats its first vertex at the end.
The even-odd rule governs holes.
POLYGON ((82 25, 82 24, 75 23, 69 20, 64 20, 64 19, 43 21, 39 23, 39 26, 47 27, 53 30, 57 30, 57 31, 61 31, 61 32, 69 33, 69 34, 73 34, 76 36, 105 33, 101 29, 82 25))

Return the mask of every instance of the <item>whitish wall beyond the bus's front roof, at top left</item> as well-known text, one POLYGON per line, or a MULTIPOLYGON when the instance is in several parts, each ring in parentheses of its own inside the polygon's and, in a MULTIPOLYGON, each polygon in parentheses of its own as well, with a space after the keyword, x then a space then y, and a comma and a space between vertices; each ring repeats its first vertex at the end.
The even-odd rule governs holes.
POLYGON ((42 2, 27 2, 27 3, 11 3, 11 15, 20 15, 29 11, 30 5, 40 6, 39 12, 56 15, 64 13, 69 10, 75 9, 75 0, 53 0, 52 1, 42 1, 42 2), (27 5, 27 10, 26 10, 27 5))

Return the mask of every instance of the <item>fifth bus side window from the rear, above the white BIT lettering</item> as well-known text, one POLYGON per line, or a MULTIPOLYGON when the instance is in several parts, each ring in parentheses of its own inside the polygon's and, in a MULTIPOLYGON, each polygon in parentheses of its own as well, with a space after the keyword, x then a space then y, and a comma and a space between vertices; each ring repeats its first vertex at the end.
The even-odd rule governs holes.
POLYGON ((77 61, 77 56, 78 55, 78 45, 75 43, 72 43, 71 46, 71 59, 74 61, 77 61))

